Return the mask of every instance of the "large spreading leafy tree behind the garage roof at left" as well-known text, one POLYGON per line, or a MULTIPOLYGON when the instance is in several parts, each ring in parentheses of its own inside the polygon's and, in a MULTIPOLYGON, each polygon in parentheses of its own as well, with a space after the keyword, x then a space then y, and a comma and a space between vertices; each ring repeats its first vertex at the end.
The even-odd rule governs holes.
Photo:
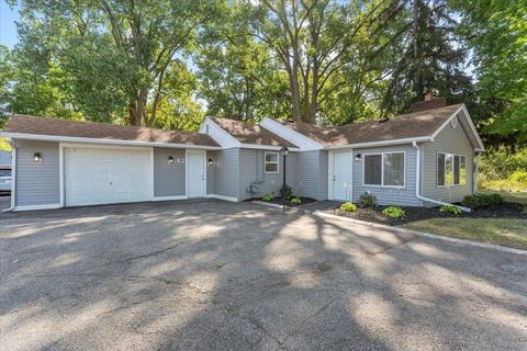
POLYGON ((152 126, 167 71, 214 8, 208 0, 25 0, 19 52, 37 47, 44 68, 65 71, 64 91, 82 114, 120 120, 124 100, 128 124, 152 126))

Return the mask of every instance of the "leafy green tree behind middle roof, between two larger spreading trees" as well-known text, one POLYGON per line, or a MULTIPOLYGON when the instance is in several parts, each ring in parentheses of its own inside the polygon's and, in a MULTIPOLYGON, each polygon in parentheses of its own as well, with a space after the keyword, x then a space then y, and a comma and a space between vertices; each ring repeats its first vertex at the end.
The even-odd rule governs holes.
POLYGON ((205 26, 193 56, 200 97, 210 115, 248 122, 284 118, 290 104, 287 77, 267 44, 248 32, 246 13, 237 4, 205 26))

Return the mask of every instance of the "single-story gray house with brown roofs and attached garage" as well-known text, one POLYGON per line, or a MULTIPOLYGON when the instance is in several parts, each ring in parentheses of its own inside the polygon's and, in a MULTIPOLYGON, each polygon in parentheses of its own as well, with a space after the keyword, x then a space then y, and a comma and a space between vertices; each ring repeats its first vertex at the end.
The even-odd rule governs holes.
POLYGON ((13 115, 1 135, 13 146, 15 211, 244 201, 278 193, 284 168, 301 196, 357 201, 369 192, 380 204, 434 206, 475 192, 484 150, 467 107, 441 99, 337 127, 206 117, 198 133, 184 133, 13 115))

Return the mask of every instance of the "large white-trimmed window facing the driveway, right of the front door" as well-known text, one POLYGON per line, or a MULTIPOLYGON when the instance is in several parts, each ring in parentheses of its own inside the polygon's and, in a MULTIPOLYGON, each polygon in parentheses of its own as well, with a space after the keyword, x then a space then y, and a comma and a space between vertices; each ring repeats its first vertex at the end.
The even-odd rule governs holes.
POLYGON ((404 186, 405 154, 382 152, 363 156, 365 185, 404 186))

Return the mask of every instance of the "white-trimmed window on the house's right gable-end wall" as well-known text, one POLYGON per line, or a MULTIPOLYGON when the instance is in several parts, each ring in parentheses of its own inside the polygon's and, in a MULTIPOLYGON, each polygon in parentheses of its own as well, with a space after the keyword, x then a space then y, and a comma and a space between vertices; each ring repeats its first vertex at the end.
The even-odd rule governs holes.
POLYGON ((437 186, 467 184, 467 157, 437 152, 437 186))

